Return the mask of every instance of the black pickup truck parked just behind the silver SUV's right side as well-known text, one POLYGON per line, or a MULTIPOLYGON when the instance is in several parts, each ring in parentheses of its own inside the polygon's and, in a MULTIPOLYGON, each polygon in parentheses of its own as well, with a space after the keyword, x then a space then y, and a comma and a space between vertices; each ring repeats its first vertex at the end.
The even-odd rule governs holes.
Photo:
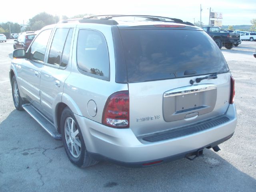
POLYGON ((233 46, 238 46, 241 43, 239 34, 220 32, 220 28, 215 26, 204 26, 202 29, 210 35, 220 49, 223 45, 226 49, 232 49, 233 46))

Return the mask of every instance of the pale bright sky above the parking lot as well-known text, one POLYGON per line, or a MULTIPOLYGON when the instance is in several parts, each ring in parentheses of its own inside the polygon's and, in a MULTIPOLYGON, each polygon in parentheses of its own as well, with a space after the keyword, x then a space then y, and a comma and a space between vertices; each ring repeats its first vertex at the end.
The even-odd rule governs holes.
POLYGON ((221 12, 223 25, 250 25, 256 18, 256 0, 12 0, 12 6, 1 8, 0 23, 18 22, 26 24, 40 12, 68 17, 78 14, 140 14, 179 18, 194 23, 200 21, 208 25, 209 9, 221 12))

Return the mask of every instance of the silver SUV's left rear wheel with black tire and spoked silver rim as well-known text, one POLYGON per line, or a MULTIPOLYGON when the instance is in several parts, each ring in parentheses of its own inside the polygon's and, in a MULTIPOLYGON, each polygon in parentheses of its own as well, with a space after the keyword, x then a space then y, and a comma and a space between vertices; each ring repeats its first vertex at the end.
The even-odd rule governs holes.
POLYGON ((89 156, 78 122, 68 107, 64 108, 61 114, 60 132, 65 152, 73 164, 88 167, 98 163, 89 156))

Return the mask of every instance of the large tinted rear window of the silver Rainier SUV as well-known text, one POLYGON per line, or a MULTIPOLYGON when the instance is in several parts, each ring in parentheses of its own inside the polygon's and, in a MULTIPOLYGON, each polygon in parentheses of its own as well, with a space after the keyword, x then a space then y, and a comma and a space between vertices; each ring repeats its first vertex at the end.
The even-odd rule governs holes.
POLYGON ((120 30, 120 34, 128 82, 198 76, 229 70, 218 46, 204 31, 120 30))

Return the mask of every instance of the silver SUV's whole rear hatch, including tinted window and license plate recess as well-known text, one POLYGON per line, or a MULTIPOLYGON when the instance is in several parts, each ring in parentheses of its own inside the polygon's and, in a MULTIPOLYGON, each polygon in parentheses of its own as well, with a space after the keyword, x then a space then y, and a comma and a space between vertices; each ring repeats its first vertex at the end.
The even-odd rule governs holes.
POLYGON ((143 26, 120 28, 120 36, 124 58, 117 62, 125 62, 126 74, 117 64, 116 82, 128 83, 130 129, 136 136, 196 124, 226 112, 230 72, 204 31, 143 26))

